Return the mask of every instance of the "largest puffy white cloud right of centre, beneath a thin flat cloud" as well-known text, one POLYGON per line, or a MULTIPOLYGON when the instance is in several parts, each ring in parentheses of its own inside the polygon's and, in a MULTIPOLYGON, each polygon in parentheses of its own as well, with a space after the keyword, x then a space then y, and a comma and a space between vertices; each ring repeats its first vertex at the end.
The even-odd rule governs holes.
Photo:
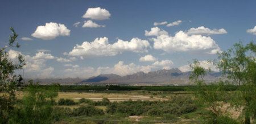
POLYGON ((163 49, 166 52, 191 51, 198 53, 216 54, 221 52, 220 47, 209 36, 191 35, 179 31, 175 36, 160 35, 152 38, 155 49, 163 49))

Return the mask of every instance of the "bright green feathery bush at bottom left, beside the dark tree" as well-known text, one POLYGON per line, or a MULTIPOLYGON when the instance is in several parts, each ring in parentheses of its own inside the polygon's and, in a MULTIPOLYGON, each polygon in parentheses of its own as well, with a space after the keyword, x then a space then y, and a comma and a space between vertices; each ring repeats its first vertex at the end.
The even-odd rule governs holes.
POLYGON ((30 81, 30 85, 23 91, 24 97, 11 114, 9 123, 51 123, 58 90, 58 85, 43 89, 30 81))

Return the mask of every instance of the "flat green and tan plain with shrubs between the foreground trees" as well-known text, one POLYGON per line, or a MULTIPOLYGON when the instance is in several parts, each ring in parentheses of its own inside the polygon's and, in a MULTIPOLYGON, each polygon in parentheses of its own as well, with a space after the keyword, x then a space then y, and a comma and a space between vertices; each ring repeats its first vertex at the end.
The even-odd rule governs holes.
MULTIPOLYGON (((187 86, 110 87, 117 90, 102 90, 106 86, 60 86, 54 98, 54 123, 201 123, 200 117, 212 111, 209 105, 198 105, 196 91, 185 91, 187 86)), ((237 88, 226 86, 226 91, 232 94, 237 88)), ((16 92, 18 100, 26 96, 25 91, 16 92)), ((228 111, 230 117, 240 117, 241 108, 230 109, 228 103, 223 106, 222 111, 228 111)))

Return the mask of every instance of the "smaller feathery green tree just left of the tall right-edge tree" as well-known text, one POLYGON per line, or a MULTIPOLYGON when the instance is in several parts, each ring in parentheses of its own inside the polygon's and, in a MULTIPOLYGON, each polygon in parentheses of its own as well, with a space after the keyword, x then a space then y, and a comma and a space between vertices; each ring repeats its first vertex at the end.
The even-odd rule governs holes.
POLYGON ((228 92, 225 90, 225 82, 211 82, 207 84, 204 80, 204 76, 207 75, 207 72, 210 72, 210 68, 206 70, 203 67, 200 67, 200 63, 198 60, 194 60, 192 64, 190 64, 192 69, 192 73, 189 76, 189 80, 191 80, 195 85, 192 90, 196 90, 196 101, 197 104, 209 106, 210 112, 205 116, 204 122, 207 123, 218 123, 217 120, 224 116, 223 111, 221 110, 222 106, 224 106, 228 96, 228 92))

